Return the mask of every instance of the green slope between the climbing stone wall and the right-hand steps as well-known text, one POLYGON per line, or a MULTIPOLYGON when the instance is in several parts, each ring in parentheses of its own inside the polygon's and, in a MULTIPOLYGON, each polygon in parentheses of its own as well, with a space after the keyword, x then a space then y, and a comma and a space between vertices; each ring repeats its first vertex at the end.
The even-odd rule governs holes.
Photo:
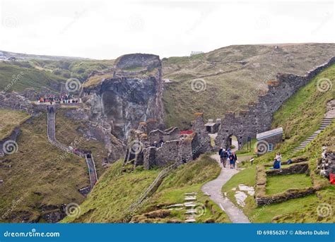
POLYGON ((274 114, 273 127, 283 127, 286 142, 282 152, 290 151, 320 126, 326 104, 335 97, 335 65, 319 73, 310 83, 290 97, 274 114), (329 78, 333 88, 327 92, 317 90, 317 80, 329 78))

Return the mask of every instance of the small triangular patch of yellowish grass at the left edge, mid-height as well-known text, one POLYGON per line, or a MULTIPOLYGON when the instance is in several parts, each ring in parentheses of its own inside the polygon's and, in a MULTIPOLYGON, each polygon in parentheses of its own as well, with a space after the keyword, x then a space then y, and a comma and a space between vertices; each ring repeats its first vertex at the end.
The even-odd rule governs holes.
POLYGON ((0 140, 11 134, 14 128, 29 119, 25 111, 0 109, 0 140))

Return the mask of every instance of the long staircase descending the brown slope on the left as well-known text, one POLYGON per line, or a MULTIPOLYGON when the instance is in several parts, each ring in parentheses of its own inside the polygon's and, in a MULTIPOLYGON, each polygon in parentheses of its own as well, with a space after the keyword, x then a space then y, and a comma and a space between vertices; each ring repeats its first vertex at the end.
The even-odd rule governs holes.
POLYGON ((85 154, 83 152, 78 152, 78 150, 71 150, 69 147, 63 145, 56 139, 56 114, 54 113, 54 108, 51 108, 47 111, 47 138, 49 140, 49 143, 58 147, 59 149, 86 159, 88 174, 90 176, 90 190, 92 190, 93 186, 98 181, 98 175, 97 170, 95 169, 93 155, 90 153, 85 154))

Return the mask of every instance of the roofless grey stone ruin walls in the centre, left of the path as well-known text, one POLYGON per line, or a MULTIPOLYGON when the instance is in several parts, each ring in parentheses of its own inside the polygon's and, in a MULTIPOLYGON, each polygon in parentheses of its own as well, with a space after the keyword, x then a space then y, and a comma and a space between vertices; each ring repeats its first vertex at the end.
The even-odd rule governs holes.
POLYGON ((177 127, 169 128, 165 131, 154 130, 147 135, 146 123, 141 122, 137 130, 131 131, 129 144, 136 143, 143 145, 141 152, 134 154, 131 147, 127 148, 124 163, 134 159, 134 166, 143 165, 144 169, 152 167, 163 167, 171 162, 185 163, 199 157, 199 155, 211 151, 211 140, 204 126, 204 114, 196 114, 196 119, 192 123, 191 135, 180 138, 180 131, 177 127), (161 135, 166 138, 163 146, 154 147, 152 141, 159 142, 161 135))

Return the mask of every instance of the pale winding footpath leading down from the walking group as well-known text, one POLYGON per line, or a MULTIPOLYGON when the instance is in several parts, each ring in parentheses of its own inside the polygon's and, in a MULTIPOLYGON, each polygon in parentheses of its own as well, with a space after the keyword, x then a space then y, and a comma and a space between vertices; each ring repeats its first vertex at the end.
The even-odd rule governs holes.
POLYGON ((245 214, 243 214, 242 210, 236 207, 233 202, 231 202, 228 198, 223 198, 221 193, 222 186, 229 181, 229 179, 239 172, 237 169, 230 169, 228 166, 223 168, 223 165, 220 162, 220 157, 216 155, 211 155, 213 159, 216 159, 218 164, 221 167, 221 173, 213 181, 209 181, 208 183, 202 186, 201 190, 204 193, 211 195, 211 200, 216 202, 216 204, 221 207, 221 209, 228 214, 231 222, 233 223, 249 223, 249 219, 245 214))

